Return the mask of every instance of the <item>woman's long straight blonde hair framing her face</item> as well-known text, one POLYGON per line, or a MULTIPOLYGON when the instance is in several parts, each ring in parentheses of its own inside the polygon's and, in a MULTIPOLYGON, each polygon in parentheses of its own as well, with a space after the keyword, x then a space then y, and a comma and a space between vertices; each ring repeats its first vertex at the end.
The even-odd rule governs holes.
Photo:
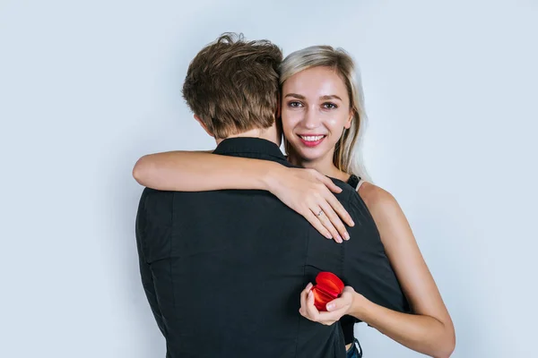
MULTIPOLYGON (((348 90, 350 107, 353 113, 350 129, 344 128, 342 137, 334 148, 334 166, 344 173, 359 175, 361 178, 369 180, 360 151, 367 117, 364 110, 360 76, 355 70, 351 55, 345 52, 343 48, 330 46, 312 46, 295 51, 282 61, 280 66, 281 86, 284 81, 294 74, 319 66, 332 68, 340 75, 348 90)), ((289 153, 288 141, 285 141, 285 148, 289 153)))

